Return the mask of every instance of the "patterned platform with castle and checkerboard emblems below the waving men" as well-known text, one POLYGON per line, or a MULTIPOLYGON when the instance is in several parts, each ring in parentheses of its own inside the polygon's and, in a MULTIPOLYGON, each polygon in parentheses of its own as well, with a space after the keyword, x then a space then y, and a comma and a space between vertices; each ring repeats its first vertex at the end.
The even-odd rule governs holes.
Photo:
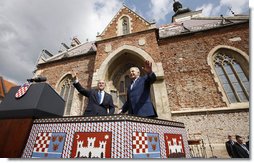
POLYGON ((22 158, 190 158, 183 123, 130 115, 37 118, 22 158))

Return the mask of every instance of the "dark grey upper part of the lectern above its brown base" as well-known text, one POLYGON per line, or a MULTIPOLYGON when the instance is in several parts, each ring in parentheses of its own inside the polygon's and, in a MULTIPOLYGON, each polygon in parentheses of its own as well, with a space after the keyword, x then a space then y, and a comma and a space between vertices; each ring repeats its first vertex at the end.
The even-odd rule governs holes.
POLYGON ((63 116, 65 102, 47 83, 32 84, 23 97, 16 99, 18 89, 12 88, 0 104, 0 118, 63 116))

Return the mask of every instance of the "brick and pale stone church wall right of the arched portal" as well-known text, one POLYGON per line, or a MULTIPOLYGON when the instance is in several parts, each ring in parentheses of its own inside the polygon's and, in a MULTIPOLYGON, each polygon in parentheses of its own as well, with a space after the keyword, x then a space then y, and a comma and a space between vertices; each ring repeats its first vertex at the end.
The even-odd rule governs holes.
MULTIPOLYGON (((227 108, 207 63, 209 52, 219 45, 238 48, 249 55, 248 25, 160 40, 160 56, 171 111, 227 108), (235 37, 240 37, 241 41, 229 40, 235 37)), ((224 144, 228 134, 242 135, 244 141, 249 135, 247 109, 172 114, 172 120, 185 124, 189 139, 204 140, 208 157, 228 158, 224 144)))

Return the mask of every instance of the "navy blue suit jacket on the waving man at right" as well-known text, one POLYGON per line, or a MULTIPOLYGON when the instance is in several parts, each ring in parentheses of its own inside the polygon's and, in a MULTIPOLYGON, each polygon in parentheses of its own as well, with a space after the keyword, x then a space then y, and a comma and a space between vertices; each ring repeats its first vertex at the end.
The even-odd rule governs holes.
POLYGON ((128 111, 142 117, 157 117, 157 113, 150 97, 150 87, 156 81, 156 75, 152 72, 143 77, 139 77, 132 89, 130 86, 127 91, 127 101, 122 107, 122 112, 128 111))

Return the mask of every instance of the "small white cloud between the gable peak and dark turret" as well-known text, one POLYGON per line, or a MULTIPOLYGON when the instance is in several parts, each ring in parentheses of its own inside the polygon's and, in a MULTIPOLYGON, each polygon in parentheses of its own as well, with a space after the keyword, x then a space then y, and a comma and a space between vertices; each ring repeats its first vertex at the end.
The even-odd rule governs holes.
POLYGON ((155 19, 155 21, 165 20, 166 15, 173 12, 173 9, 169 10, 169 7, 171 6, 173 6, 173 1, 151 0, 151 11, 148 15, 152 17, 152 19, 155 19))

